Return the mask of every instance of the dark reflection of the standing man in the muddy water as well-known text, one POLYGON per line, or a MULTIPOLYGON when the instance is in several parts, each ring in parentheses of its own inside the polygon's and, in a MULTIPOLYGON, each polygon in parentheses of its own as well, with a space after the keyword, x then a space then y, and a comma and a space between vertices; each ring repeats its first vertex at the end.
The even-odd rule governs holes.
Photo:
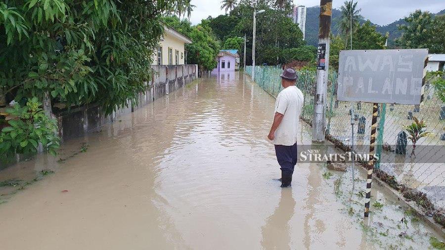
POLYGON ((294 214, 295 200, 291 188, 281 189, 278 207, 267 217, 261 228, 263 249, 290 249, 291 235, 289 221, 294 214))

